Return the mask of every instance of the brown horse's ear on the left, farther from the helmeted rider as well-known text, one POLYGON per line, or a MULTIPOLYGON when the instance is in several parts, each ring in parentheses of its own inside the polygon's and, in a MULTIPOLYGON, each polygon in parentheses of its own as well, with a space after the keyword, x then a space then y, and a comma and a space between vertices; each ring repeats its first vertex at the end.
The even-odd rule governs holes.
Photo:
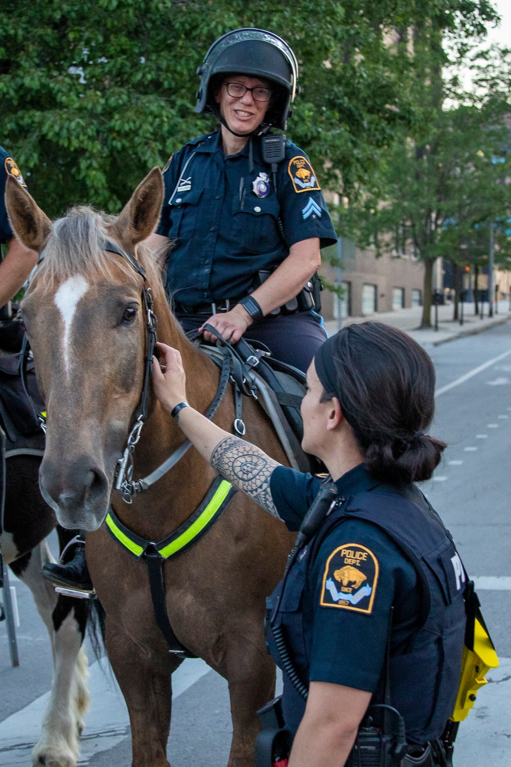
POLYGON ((21 184, 7 176, 5 208, 13 232, 23 245, 41 253, 51 232, 51 221, 21 184))

